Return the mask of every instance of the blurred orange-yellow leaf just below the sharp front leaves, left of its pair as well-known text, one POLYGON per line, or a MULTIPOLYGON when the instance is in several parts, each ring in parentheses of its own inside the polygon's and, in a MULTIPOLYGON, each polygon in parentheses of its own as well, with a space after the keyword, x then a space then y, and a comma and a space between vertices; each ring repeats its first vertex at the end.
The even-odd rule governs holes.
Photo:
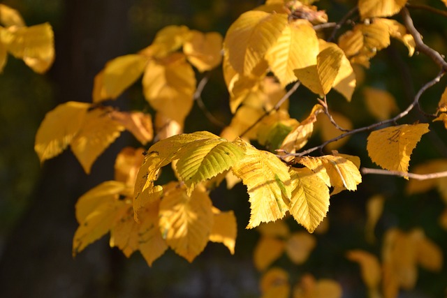
POLYGON ((254 266, 259 271, 264 271, 272 263, 278 260, 284 253, 286 243, 284 240, 276 239, 274 237, 263 236, 259 239, 254 248, 253 261, 254 266))

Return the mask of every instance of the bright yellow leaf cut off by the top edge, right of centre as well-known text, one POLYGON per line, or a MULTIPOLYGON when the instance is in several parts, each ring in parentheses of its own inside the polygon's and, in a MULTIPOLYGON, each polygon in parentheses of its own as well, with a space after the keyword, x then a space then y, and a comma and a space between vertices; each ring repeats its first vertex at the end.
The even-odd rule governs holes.
POLYGON ((362 20, 370 17, 390 17, 399 13, 406 0, 359 0, 358 10, 362 20))

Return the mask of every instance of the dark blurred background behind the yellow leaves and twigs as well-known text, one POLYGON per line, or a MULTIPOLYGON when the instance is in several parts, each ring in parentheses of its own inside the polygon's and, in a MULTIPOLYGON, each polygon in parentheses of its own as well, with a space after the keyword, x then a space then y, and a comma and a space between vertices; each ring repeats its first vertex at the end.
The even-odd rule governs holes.
MULTIPOLYGON (((8 57, 0 75, 0 297, 258 297, 261 274, 253 265, 253 251, 259 234, 245 230, 249 202, 244 186, 232 191, 220 186, 211 193, 214 204, 233 209, 238 237, 235 255, 221 244, 208 244, 192 264, 168 251, 153 267, 139 253, 127 259, 117 248, 108 246, 108 237, 91 244, 76 258, 71 256, 76 200, 90 188, 113 178, 117 153, 125 146, 138 147, 130 134, 121 137, 98 158, 87 176, 70 151, 38 162, 34 135, 45 113, 69 100, 91 101, 94 75, 106 61, 141 50, 159 29, 184 24, 199 31, 219 31, 222 35, 236 18, 261 5, 257 0, 7 0, 4 4, 22 13, 27 25, 50 22, 55 33, 56 60, 50 71, 38 75, 23 61, 8 57)), ((441 1, 424 3, 439 8, 441 1)), ((340 20, 354 3, 321 1, 329 20, 340 20)), ((415 24, 427 44, 447 53, 446 17, 416 10, 415 24)), ((409 58, 400 43, 392 45, 372 60, 362 75, 362 84, 387 89, 397 98, 400 110, 409 105, 415 92, 438 73, 437 66, 423 55, 409 58), (415 91, 416 90, 416 91, 415 91)), ((199 75, 200 79, 200 75, 199 75)), ((352 103, 333 95, 332 109, 343 112, 360 127, 374 118, 365 110, 361 90, 352 103)), ((434 111, 446 79, 423 96, 423 109, 434 111)), ((202 95, 214 117, 225 124, 231 119, 228 92, 221 69, 212 70, 202 95)), ((291 99, 291 116, 307 117, 315 96, 305 88, 291 99), (293 100, 299 100, 294 104, 293 100)), ((140 83, 126 91, 114 105, 124 110, 147 107, 140 83)), ((186 119, 186 132, 207 130, 219 134, 221 128, 203 120, 197 106, 186 119), (197 121, 200 119, 200 121, 197 121)), ((408 122, 424 121, 411 114, 408 122)), ((365 149, 367 134, 353 136, 339 149, 360 156, 364 166, 374 167, 365 149)), ((430 158, 447 158, 447 134, 441 123, 413 153, 411 165, 430 158)), ((318 137, 309 146, 319 144, 318 137)), ((305 265, 293 265, 286 258, 277 265, 288 270, 295 281, 305 273, 332 278, 342 284, 343 297, 366 297, 357 264, 346 260, 349 249, 361 248, 380 255, 381 242, 365 241, 365 204, 378 193, 386 197, 386 211, 376 227, 381 239, 390 227, 402 230, 422 227, 446 257, 447 232, 437 224, 444 202, 436 191, 408 196, 406 182, 395 177, 366 176, 355 193, 344 192, 331 199, 329 230, 318 234, 317 246, 305 265)), ((303 230, 294 221, 291 230, 303 230)), ((416 289, 400 297, 444 297, 447 270, 439 274, 420 269, 416 289)))

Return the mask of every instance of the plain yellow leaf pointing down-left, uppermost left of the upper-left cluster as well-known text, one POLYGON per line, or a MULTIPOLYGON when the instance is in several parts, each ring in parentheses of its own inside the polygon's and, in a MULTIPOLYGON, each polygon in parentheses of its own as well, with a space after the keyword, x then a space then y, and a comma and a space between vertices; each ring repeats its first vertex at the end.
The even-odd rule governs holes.
POLYGON ((101 71, 101 79, 94 80, 94 103, 120 96, 129 88, 145 70, 147 57, 140 54, 129 54, 108 61, 101 71))

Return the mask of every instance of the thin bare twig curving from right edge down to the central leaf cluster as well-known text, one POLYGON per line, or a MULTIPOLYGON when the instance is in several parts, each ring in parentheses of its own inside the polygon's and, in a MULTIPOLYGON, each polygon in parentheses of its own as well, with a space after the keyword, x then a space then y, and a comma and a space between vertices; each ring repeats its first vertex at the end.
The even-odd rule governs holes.
POLYGON ((425 85, 423 85, 423 87, 421 87, 418 91, 418 93, 416 94, 416 96, 414 97, 413 103, 411 103, 403 112, 401 112, 400 114, 397 114, 397 116, 391 118, 391 119, 387 119, 387 120, 383 120, 380 122, 377 122, 375 124, 369 125, 369 126, 364 126, 364 127, 360 127, 360 128, 356 128, 353 129, 352 131, 348 131, 346 133, 342 133, 341 135, 339 135, 338 137, 334 137, 330 140, 327 140, 325 142, 323 142, 323 144, 320 144, 319 146, 316 147, 312 147, 310 149, 307 149, 305 151, 299 152, 299 153, 289 153, 289 154, 285 154, 283 156, 281 156, 282 158, 286 158, 288 156, 305 156, 315 150, 318 149, 323 149, 327 144, 335 142, 337 140, 340 140, 344 137, 347 137, 348 135, 353 135, 354 133, 360 133, 362 131, 370 131, 373 128, 379 127, 379 126, 383 126, 385 124, 390 124, 390 123, 395 123, 397 120, 401 119, 402 117, 406 116, 406 114, 408 114, 411 110, 413 110, 413 107, 415 107, 418 104, 419 98, 420 96, 422 96, 422 94, 429 89, 430 87, 432 87, 434 84, 436 84, 437 82, 439 82, 439 80, 441 80, 441 77, 444 76, 444 72, 439 73, 439 75, 437 75, 437 77, 435 77, 433 80, 431 80, 430 82, 427 82, 425 85))

